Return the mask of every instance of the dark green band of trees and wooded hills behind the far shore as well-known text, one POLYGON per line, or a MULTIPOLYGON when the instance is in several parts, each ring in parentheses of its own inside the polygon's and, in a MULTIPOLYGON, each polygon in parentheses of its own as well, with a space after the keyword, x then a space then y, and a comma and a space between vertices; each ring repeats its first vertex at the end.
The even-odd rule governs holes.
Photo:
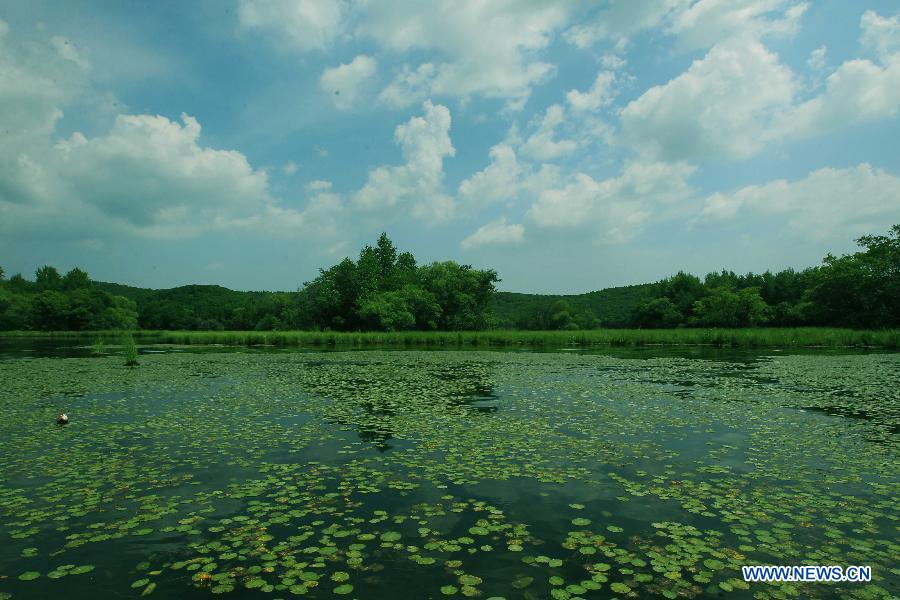
POLYGON ((577 295, 499 292, 494 270, 419 265, 387 234, 295 292, 189 285, 150 290, 43 266, 30 281, 0 267, 0 330, 586 330, 601 327, 900 326, 900 225, 801 271, 699 277, 577 295))

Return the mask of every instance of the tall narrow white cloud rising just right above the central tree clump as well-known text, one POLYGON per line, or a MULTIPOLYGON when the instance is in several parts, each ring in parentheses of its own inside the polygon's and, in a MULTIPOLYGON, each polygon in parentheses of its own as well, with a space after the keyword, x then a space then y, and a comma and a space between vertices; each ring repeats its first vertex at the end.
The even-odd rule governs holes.
POLYGON ((444 158, 456 151, 450 141, 450 110, 431 101, 423 104, 424 116, 398 125, 394 141, 404 162, 369 171, 366 184, 354 202, 367 211, 402 207, 414 217, 444 221, 453 212, 453 201, 442 189, 444 158))

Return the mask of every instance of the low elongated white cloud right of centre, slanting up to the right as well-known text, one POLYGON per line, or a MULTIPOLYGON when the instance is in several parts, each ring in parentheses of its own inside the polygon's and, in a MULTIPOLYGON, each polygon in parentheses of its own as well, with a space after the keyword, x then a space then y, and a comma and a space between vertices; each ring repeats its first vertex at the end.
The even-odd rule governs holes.
POLYGON ((686 162, 631 162, 602 181, 578 173, 564 187, 543 190, 528 216, 540 227, 588 228, 601 241, 624 242, 691 196, 687 180, 695 170, 686 162))

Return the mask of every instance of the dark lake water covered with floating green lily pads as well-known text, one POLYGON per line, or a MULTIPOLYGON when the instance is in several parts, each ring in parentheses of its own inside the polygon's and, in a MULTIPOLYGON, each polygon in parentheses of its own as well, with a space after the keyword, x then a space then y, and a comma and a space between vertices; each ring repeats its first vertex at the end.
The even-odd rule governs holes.
POLYGON ((0 600, 900 595, 900 354, 122 362, 0 345, 0 600))

